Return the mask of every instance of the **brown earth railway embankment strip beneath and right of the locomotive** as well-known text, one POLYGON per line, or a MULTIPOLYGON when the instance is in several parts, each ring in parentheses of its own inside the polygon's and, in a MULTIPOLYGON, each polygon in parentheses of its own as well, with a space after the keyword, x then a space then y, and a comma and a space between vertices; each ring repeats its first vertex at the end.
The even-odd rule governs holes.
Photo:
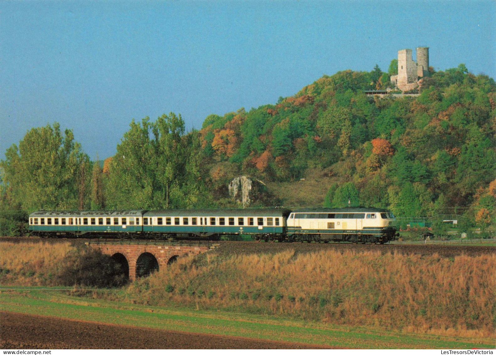
POLYGON ((479 256, 495 254, 496 247, 491 246, 455 246, 455 245, 411 245, 411 244, 344 244, 344 243, 265 243, 265 242, 218 242, 215 253, 227 254, 267 254, 294 250, 295 253, 314 253, 320 250, 339 250, 356 252, 381 252, 399 254, 432 255, 454 257, 457 255, 479 256))

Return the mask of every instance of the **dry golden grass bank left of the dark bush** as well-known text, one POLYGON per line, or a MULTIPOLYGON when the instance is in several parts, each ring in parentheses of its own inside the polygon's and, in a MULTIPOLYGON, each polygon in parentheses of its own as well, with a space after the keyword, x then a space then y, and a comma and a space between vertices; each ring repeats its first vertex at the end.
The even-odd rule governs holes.
POLYGON ((0 243, 0 284, 48 285, 62 258, 74 249, 67 243, 0 243))

